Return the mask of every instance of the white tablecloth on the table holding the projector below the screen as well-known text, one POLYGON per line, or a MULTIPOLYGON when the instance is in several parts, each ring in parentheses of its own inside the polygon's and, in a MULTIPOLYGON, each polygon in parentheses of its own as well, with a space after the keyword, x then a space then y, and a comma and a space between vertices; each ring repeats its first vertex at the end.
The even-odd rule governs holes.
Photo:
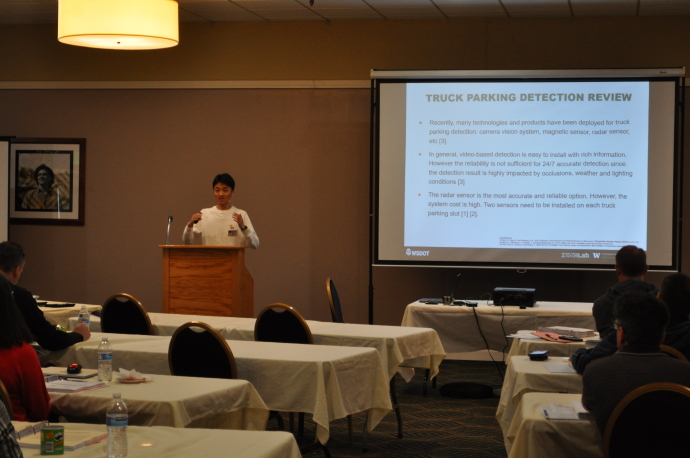
POLYGON ((538 302, 524 310, 507 305, 502 309, 494 305, 465 307, 413 302, 405 309, 402 325, 436 330, 443 348, 449 353, 486 350, 473 310, 477 312, 489 348, 495 351, 507 350, 510 339, 505 336, 520 329, 543 326, 595 329, 591 303, 538 302))

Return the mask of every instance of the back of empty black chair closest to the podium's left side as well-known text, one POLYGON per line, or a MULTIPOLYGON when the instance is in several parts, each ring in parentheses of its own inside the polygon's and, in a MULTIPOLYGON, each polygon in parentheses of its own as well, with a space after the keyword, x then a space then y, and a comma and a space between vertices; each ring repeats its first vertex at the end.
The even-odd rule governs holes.
POLYGON ((113 334, 154 335, 149 314, 133 296, 110 296, 101 309, 101 330, 113 334))

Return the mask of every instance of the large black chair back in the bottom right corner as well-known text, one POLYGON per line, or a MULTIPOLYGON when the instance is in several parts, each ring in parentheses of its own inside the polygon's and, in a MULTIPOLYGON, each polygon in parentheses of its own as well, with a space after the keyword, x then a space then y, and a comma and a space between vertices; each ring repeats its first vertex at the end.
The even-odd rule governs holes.
POLYGON ((678 456, 687 449, 690 388, 650 383, 629 393, 613 411, 604 432, 604 456, 678 456))

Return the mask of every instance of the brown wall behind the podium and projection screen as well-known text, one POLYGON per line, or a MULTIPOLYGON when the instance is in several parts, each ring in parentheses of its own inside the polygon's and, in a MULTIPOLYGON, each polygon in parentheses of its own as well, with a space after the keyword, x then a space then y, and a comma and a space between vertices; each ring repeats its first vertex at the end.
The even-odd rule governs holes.
MULTIPOLYGON (((371 68, 678 67, 690 63, 687 25, 687 17, 182 24, 179 47, 147 52, 69 47, 55 26, 4 25, 0 87, 366 80, 371 68)), ((332 276, 346 320, 366 322, 368 90, 5 89, 0 106, 0 135, 87 139, 86 225, 10 228, 28 253, 22 284, 36 294, 99 303, 124 291, 160 310, 157 245, 167 216, 179 237, 194 211, 213 204, 212 176, 229 171, 236 204, 261 238, 247 256, 256 310, 280 301, 328 319, 332 276)), ((447 294, 456 273, 376 268, 376 322, 399 324, 406 303, 447 294)), ((614 281, 612 273, 475 269, 463 270, 459 291, 530 286, 543 300, 590 301, 614 281)))

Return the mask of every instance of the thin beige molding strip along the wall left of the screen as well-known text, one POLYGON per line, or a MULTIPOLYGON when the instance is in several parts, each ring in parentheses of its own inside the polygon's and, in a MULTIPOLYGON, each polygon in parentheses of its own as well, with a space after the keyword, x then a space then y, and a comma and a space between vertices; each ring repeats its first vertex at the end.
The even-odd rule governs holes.
POLYGON ((369 89, 371 80, 0 81, 0 89, 369 89))

